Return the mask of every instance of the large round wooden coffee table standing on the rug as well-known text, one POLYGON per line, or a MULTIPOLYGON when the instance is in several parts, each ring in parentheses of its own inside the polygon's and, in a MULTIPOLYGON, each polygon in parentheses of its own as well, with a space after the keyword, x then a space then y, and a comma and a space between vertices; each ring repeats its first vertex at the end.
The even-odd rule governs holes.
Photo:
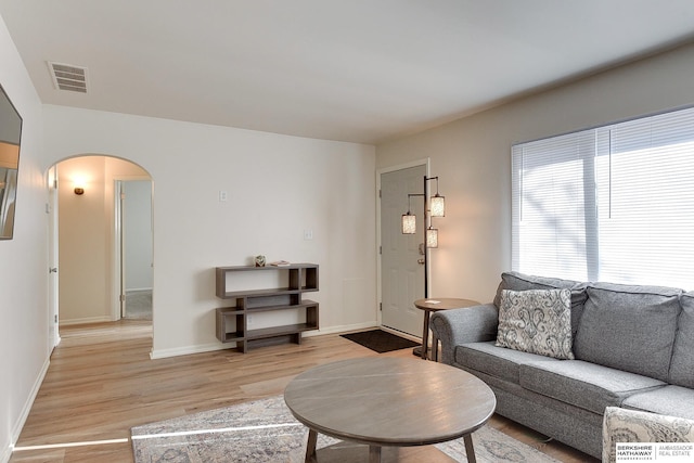
MULTIPOLYGON (((489 386, 467 372, 393 357, 316 366, 287 385, 284 401, 309 428, 307 462, 318 461, 318 433, 369 446, 372 463, 381 461, 382 447, 429 446, 463 437, 467 460, 475 462, 471 434, 497 407, 489 386)), ((430 451, 440 454, 434 447, 430 451)))

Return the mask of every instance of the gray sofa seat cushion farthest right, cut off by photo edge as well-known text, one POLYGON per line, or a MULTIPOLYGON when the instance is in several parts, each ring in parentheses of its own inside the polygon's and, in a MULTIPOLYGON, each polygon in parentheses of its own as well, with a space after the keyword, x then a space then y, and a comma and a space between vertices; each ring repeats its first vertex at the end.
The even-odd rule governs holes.
POLYGON ((630 396, 621 407, 694 420, 694 389, 666 386, 647 390, 630 396))

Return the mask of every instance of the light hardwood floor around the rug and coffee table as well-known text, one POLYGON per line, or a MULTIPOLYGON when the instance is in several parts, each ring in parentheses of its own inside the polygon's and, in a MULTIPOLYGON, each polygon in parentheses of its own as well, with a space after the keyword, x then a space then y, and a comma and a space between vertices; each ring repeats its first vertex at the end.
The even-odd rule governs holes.
MULTIPOLYGON (((10 462, 132 462, 132 426, 280 395, 311 366, 378 356, 324 335, 245 355, 218 350, 151 360, 152 327, 144 321, 65 326, 61 337, 10 462), (75 442, 87 445, 68 447, 75 442)), ((412 351, 381 356, 412 357, 412 351)), ((501 416, 489 424, 562 462, 597 462, 558 442, 545 443, 543 436, 501 416)))

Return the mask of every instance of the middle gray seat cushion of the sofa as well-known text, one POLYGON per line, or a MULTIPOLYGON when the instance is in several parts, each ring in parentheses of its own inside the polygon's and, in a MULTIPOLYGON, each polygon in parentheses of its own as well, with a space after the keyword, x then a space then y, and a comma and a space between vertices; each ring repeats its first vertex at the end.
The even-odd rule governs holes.
POLYGON ((581 360, 528 362, 519 366, 520 386, 543 396, 603 414, 632 394, 663 387, 652 377, 581 360))

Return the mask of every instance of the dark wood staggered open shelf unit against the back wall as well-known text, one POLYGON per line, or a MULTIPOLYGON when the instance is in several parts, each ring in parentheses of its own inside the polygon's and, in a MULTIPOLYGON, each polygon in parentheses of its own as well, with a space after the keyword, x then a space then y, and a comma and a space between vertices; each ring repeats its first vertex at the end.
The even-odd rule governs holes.
MULTIPOLYGON (((318 303, 303 299, 304 293, 318 291, 318 265, 292 263, 283 267, 217 267, 216 292, 220 299, 235 299, 235 306, 217 309, 217 338, 222 343, 235 343, 236 349, 246 352, 250 346, 293 342, 301 344, 301 333, 318 330, 318 303), (283 281, 279 287, 248 291, 228 291, 228 278, 235 272, 278 272, 283 281), (282 326, 249 329, 252 313, 300 310, 304 323, 282 326)), ((266 273, 267 275, 267 273, 266 273)))

